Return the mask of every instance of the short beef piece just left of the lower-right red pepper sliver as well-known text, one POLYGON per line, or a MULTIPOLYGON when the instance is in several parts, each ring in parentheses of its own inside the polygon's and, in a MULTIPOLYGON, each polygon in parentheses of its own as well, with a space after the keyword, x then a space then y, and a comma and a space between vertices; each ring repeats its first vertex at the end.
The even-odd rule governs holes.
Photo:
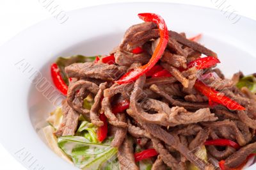
POLYGON ((208 139, 210 134, 209 128, 202 129, 196 134, 195 139, 189 143, 189 150, 194 150, 195 148, 204 145, 205 141, 208 139))

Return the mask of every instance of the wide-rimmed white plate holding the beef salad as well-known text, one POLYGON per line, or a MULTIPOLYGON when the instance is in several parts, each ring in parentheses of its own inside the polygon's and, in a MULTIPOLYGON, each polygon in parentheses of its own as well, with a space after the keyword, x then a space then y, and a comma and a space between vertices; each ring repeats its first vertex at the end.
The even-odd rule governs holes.
MULTIPOLYGON (((56 156, 38 135, 54 104, 31 83, 33 73, 38 70, 51 82, 49 66, 58 56, 108 54, 127 27, 142 22, 137 17, 141 12, 159 13, 169 29, 189 36, 203 33, 201 42, 218 53, 226 75, 238 70, 255 72, 256 22, 241 17, 232 24, 234 20, 218 10, 171 3, 109 4, 68 12, 64 24, 56 19, 44 20, 22 31, 0 50, 0 139, 24 166, 76 169, 56 156)), ((253 167, 250 169, 256 165, 253 167)))

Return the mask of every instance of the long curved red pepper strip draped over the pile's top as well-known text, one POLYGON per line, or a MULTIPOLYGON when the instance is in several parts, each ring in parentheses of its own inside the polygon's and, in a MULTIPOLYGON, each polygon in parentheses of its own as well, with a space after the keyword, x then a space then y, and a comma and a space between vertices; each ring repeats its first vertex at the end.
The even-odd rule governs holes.
POLYGON ((139 13, 138 16, 145 22, 155 22, 157 24, 160 33, 160 40, 150 61, 148 61, 146 65, 140 66, 139 68, 136 68, 134 70, 131 70, 130 72, 125 73, 125 75, 123 75, 118 81, 116 81, 116 83, 118 84, 124 84, 135 81, 141 75, 150 70, 154 65, 156 65, 157 61, 159 61, 168 43, 168 28, 162 17, 155 13, 139 13))

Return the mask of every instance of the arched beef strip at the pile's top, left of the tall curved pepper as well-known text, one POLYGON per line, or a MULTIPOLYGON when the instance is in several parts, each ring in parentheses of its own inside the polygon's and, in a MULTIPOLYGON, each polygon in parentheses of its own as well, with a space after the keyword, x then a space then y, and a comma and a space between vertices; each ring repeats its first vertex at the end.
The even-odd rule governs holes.
POLYGON ((128 43, 131 42, 133 36, 141 31, 148 31, 150 29, 156 28, 156 24, 154 22, 143 22, 141 24, 136 24, 134 26, 129 27, 127 31, 125 32, 125 35, 123 37, 122 43, 120 44, 121 50, 128 50, 128 43))

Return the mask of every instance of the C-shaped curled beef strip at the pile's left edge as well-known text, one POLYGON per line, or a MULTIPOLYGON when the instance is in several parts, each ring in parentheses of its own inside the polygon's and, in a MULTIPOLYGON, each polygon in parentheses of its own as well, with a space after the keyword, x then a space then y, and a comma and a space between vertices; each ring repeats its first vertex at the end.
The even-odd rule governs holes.
POLYGON ((67 103, 75 111, 83 114, 86 118, 89 118, 90 110, 84 109, 83 102, 90 93, 96 95, 99 91, 99 86, 93 82, 79 80, 68 87, 67 103), (77 92, 78 91, 78 92, 77 92))

